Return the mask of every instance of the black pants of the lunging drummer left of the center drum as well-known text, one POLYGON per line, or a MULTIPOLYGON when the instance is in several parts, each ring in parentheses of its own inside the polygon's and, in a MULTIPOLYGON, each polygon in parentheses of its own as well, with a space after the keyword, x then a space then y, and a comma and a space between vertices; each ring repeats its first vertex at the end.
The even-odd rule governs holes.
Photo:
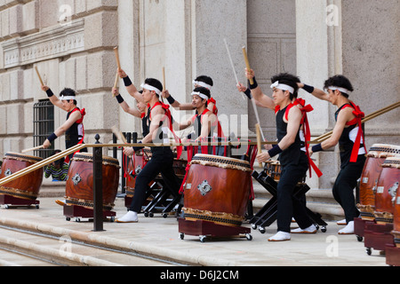
POLYGON ((135 193, 133 195, 130 210, 140 213, 141 207, 146 201, 148 184, 161 173, 165 187, 177 196, 180 190, 180 180, 175 175, 173 168, 173 154, 170 148, 160 147, 153 150, 153 156, 140 171, 135 182, 135 193))

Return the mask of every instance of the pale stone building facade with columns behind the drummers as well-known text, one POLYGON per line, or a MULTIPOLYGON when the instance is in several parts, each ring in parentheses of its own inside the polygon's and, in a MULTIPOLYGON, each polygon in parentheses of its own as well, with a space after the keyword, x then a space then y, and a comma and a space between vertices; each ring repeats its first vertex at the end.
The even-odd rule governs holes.
MULTIPOLYGON (((322 88, 331 75, 347 75, 351 95, 365 114, 400 100, 398 0, 0 0, 0 155, 35 145, 35 106, 46 99, 44 83, 58 94, 68 87, 86 109, 85 142, 112 138, 111 127, 139 132, 140 121, 124 114, 111 88, 116 76, 114 47, 124 71, 140 85, 147 77, 162 80, 180 102, 190 101, 197 75, 214 80, 220 121, 226 133, 254 138, 252 104, 236 91, 244 82, 247 48, 252 68, 266 93, 269 78, 280 72, 300 76, 322 88)), ((120 82, 129 105, 135 102, 120 82)), ((313 136, 334 125, 335 108, 300 96, 314 106, 309 114, 313 136)), ((266 138, 275 140, 275 118, 258 109, 266 138)), ((365 125, 367 146, 400 145, 400 111, 365 125)), ((173 111, 177 120, 192 113, 173 111)), ((53 127, 66 114, 53 110, 53 127)), ((184 135, 184 133, 180 133, 184 135)), ((64 139, 55 147, 64 149, 64 139)), ((315 156, 324 177, 313 188, 331 188, 339 170, 337 150, 315 156)), ((314 175, 315 176, 315 175, 314 175)))

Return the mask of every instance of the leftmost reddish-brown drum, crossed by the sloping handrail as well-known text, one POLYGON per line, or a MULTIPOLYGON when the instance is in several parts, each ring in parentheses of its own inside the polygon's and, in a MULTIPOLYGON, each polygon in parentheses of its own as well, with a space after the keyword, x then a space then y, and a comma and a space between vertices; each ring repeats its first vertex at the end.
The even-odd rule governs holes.
MULTIPOLYGON (((4 156, 0 178, 11 176, 12 174, 24 170, 42 160, 42 158, 27 154, 7 153, 4 156)), ((0 186, 0 194, 7 194, 20 199, 36 201, 42 182, 43 167, 40 167, 23 177, 19 177, 0 186)))

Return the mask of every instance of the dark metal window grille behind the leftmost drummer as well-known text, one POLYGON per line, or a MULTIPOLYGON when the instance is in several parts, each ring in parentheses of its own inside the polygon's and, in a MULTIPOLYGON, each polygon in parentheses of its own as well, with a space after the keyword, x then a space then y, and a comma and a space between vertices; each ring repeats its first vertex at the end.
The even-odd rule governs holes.
MULTIPOLYGON (((34 146, 41 146, 50 134, 54 132, 54 106, 48 99, 34 105, 34 146)), ((49 149, 35 151, 35 155, 48 158, 52 155, 54 146, 49 149)))

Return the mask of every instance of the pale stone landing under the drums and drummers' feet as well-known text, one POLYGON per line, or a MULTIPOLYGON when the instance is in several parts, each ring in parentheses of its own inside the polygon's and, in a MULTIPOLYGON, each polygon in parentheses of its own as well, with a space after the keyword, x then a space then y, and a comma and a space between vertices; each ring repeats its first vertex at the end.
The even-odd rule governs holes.
MULTIPOLYGON (((203 266, 388 266, 380 251, 365 252, 364 242, 355 235, 338 235, 340 226, 327 220, 327 232, 293 234, 292 241, 269 242, 276 224, 262 234, 252 230, 252 241, 245 238, 207 239, 185 235, 180 240, 176 217, 143 217, 137 224, 105 222, 103 232, 93 232, 93 223, 67 221, 55 198, 39 199, 40 209, 0 209, 0 225, 34 229, 58 236, 69 235, 109 248, 123 248, 169 259, 182 264, 203 266)), ((116 217, 126 212, 124 199, 116 199, 116 217)), ((250 225, 247 225, 250 227, 250 225)), ((293 224, 293 227, 296 225, 293 224)))

